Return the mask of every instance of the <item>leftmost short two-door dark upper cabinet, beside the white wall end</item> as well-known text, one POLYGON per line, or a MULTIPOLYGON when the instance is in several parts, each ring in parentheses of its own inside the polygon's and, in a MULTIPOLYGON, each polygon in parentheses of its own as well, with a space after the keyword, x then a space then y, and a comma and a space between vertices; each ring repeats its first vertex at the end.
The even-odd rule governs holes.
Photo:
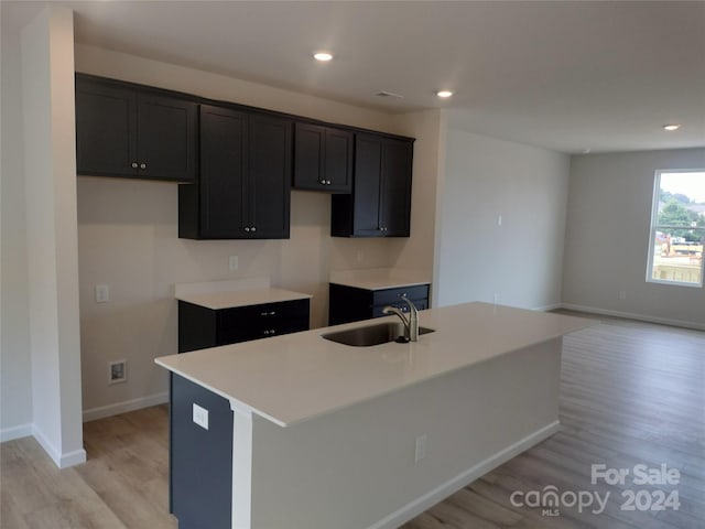
POLYGON ((193 101, 77 75, 77 172, 193 182, 196 117, 193 101))

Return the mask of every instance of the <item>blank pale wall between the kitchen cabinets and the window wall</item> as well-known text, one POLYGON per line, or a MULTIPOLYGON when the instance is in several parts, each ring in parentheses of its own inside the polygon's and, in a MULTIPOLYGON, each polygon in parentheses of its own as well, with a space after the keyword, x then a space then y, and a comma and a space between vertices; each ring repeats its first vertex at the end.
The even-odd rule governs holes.
POLYGON ((561 302, 568 169, 565 154, 448 129, 436 304, 561 302))

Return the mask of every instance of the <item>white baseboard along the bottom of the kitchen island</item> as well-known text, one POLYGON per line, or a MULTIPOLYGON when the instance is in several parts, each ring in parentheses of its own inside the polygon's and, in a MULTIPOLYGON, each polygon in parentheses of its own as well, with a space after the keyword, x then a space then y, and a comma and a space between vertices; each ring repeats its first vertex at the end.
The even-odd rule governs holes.
POLYGON ((457 476, 438 485, 433 490, 430 490, 423 496, 406 504, 401 509, 395 510, 391 515, 371 525, 370 527, 368 527, 368 529, 394 529, 402 526, 406 521, 430 509, 438 501, 442 501, 452 494, 458 492, 460 488, 469 485, 475 479, 484 476, 494 468, 497 468, 502 463, 506 463, 512 457, 529 450, 533 445, 539 444, 541 441, 550 438, 551 435, 556 433, 560 428, 561 423, 558 421, 546 424, 545 427, 536 430, 530 435, 527 435, 525 438, 497 452, 495 455, 491 455, 487 460, 479 462, 467 471, 464 471, 457 476))

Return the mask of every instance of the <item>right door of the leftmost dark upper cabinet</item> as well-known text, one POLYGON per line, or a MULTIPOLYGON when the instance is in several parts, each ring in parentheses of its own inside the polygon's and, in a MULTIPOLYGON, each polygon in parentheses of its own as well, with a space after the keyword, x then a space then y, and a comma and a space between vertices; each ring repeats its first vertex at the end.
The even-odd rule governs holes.
POLYGON ((138 95, 139 175, 189 182, 196 177, 195 102, 138 95))

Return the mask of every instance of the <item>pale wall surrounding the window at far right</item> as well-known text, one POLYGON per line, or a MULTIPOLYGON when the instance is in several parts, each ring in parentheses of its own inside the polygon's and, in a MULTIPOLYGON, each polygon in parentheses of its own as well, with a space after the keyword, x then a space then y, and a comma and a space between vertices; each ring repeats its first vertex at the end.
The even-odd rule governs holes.
POLYGON ((564 302, 705 328, 704 289, 646 282, 654 172, 704 168, 705 149, 574 156, 564 302))

